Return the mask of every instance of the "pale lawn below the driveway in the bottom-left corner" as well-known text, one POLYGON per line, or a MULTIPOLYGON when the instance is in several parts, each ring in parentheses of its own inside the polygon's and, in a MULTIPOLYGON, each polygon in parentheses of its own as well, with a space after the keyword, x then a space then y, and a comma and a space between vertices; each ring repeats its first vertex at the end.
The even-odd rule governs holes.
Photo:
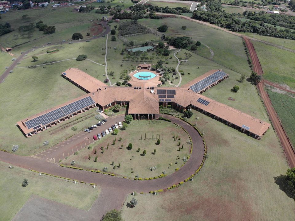
POLYGON ((9 164, 0 162, 0 214, 2 221, 11 220, 29 200, 37 195, 49 200, 89 210, 99 196, 100 188, 87 184, 72 184, 72 181, 42 175, 19 167, 9 168, 9 164), (29 185, 22 187, 26 178, 29 185), (70 194, 69 194, 70 193, 70 194))

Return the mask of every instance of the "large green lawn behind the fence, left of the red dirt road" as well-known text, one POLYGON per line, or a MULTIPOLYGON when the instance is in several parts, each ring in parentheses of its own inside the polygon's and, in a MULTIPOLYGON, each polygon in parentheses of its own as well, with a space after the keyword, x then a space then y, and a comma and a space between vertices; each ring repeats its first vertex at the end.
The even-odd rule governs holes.
MULTIPOLYGON (((157 29, 160 25, 166 24, 168 30, 165 32, 165 35, 192 37, 193 40, 200 41, 213 50, 214 56, 212 60, 215 62, 246 76, 250 76, 251 74, 242 39, 238 36, 181 18, 139 19, 138 22, 152 29, 157 29), (181 27, 183 25, 187 26, 187 29, 182 30, 181 27)), ((198 53, 210 58, 211 54, 208 52, 208 48, 204 48, 203 50, 206 52, 198 53)))

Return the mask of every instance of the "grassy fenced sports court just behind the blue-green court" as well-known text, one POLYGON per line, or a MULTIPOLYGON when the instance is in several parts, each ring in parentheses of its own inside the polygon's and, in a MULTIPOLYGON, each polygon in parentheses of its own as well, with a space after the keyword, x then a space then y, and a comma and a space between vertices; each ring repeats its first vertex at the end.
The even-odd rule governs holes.
POLYGON ((119 34, 118 36, 118 38, 127 45, 129 45, 130 41, 132 41, 134 45, 142 45, 146 42, 160 41, 162 37, 163 37, 162 33, 152 29, 148 29, 142 33, 136 33, 136 34, 130 34, 130 35, 119 34))

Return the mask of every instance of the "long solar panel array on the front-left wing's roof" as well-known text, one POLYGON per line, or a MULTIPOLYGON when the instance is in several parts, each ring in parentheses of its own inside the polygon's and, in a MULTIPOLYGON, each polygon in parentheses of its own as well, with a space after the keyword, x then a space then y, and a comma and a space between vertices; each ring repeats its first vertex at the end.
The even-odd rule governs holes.
POLYGON ((46 114, 42 114, 41 116, 26 121, 25 124, 27 128, 30 129, 33 127, 35 130, 39 128, 40 125, 44 126, 46 124, 56 121, 57 119, 63 118, 65 116, 68 116, 69 114, 77 112, 85 107, 89 107, 93 104, 95 104, 95 102, 92 100, 91 97, 85 97, 81 100, 75 101, 63 107, 57 108, 56 110, 50 111, 46 114))

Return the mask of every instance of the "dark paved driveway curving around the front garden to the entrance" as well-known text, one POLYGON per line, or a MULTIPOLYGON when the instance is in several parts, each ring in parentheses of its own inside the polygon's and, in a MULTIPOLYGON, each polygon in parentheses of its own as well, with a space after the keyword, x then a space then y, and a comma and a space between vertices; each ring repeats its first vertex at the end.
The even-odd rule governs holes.
MULTIPOLYGON (((190 134, 193 142, 193 151, 190 159, 183 167, 181 167, 177 172, 161 179, 144 181, 129 180, 121 177, 104 175, 101 173, 91 173, 85 170, 82 171, 64 168, 57 166, 56 164, 46 162, 43 159, 23 157, 3 151, 0 151, 0 160, 25 169, 34 169, 57 176, 68 177, 71 179, 84 181, 86 183, 95 183, 99 185, 101 188, 101 195, 98 197, 95 204, 92 206, 92 209, 90 210, 95 211, 93 212, 95 217, 93 217, 92 212, 86 213, 85 220, 86 217, 89 217, 89 220, 93 220, 94 218, 96 220, 100 220, 106 211, 111 209, 121 209, 125 196, 128 193, 133 191, 149 192, 151 190, 166 189, 173 184, 178 184, 179 182, 187 179, 189 176, 191 176, 191 174, 195 173, 196 169, 198 169, 203 160, 204 154, 202 138, 199 136, 197 131, 187 123, 184 123, 183 121, 168 115, 165 116, 165 118, 171 119, 172 123, 175 122, 176 124, 179 124, 190 134)), ((186 185, 189 185, 189 183, 186 185)), ((75 210, 77 209, 73 208, 73 212, 75 210)), ((56 218, 59 216, 58 214, 54 215, 56 218)), ((33 217, 34 214, 31 214, 31 216, 33 217)))

